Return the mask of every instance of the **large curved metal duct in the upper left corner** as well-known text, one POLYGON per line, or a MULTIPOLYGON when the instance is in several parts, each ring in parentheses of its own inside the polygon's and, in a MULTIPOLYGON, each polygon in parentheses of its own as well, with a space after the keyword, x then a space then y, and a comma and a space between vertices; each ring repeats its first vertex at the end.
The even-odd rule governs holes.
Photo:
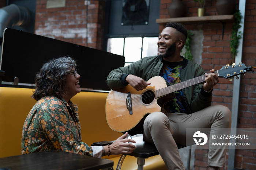
POLYGON ((25 7, 11 4, 0 8, 0 54, 2 51, 4 29, 13 26, 27 26, 30 23, 30 19, 30 12, 25 7))

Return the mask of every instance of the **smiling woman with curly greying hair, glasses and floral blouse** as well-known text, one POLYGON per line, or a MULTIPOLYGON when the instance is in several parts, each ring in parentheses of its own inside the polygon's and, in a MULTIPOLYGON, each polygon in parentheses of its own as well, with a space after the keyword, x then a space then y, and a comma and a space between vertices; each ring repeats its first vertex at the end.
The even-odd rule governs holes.
POLYGON ((111 146, 88 146, 82 142, 78 106, 70 100, 81 92, 76 61, 71 57, 52 59, 42 66, 35 77, 33 98, 37 103, 29 112, 22 131, 21 154, 63 150, 76 154, 102 157, 129 154, 135 146, 124 139, 111 146))

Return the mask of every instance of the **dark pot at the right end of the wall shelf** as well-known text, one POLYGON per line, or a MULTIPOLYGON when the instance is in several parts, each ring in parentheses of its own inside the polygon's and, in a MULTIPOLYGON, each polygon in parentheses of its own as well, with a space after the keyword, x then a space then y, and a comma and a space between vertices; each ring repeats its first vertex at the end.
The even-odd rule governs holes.
POLYGON ((218 0, 216 2, 216 9, 219 15, 232 15, 235 11, 234 0, 218 0))

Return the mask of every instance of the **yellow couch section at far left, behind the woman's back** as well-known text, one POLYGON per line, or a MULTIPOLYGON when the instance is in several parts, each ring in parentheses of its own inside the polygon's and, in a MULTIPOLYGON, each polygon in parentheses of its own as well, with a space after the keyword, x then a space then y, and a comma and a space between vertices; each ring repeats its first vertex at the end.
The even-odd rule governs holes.
POLYGON ((37 102, 32 93, 32 89, 0 88, 0 158, 20 155, 23 124, 37 102))

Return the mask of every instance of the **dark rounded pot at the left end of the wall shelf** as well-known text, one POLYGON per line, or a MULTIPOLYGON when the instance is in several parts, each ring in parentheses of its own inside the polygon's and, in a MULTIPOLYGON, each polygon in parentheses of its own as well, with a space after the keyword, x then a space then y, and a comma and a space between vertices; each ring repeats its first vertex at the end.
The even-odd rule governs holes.
POLYGON ((185 5, 181 0, 173 0, 168 7, 170 18, 182 17, 185 14, 185 5))

